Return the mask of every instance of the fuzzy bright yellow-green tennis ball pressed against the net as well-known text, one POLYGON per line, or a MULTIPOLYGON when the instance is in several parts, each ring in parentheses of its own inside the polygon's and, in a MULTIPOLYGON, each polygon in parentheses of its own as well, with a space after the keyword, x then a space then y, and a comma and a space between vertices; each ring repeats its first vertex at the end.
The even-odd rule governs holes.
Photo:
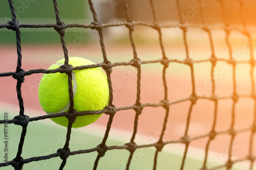
MULTIPOLYGON (((65 59, 57 61, 48 69, 56 69, 63 65, 65 59)), ((95 64, 90 60, 71 57, 69 64, 73 67, 95 64)), ((74 94, 74 109, 77 112, 101 110, 109 103, 109 85, 106 75, 101 68, 88 68, 72 71, 72 85, 74 94)), ((44 74, 39 87, 38 97, 42 109, 47 114, 61 113, 69 110, 68 75, 59 72, 44 74)), ((87 126, 95 122, 102 114, 77 116, 73 128, 87 126)), ((68 127, 68 118, 51 118, 53 122, 68 127)))

